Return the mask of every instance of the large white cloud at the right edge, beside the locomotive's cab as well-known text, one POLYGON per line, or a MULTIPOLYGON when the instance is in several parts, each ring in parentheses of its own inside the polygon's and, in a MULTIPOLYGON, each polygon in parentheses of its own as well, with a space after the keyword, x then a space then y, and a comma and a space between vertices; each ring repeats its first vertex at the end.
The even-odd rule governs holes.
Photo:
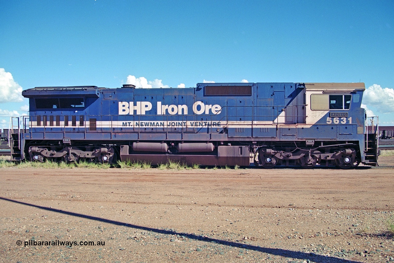
POLYGON ((394 112, 394 89, 374 84, 364 91, 362 103, 381 113, 394 112))

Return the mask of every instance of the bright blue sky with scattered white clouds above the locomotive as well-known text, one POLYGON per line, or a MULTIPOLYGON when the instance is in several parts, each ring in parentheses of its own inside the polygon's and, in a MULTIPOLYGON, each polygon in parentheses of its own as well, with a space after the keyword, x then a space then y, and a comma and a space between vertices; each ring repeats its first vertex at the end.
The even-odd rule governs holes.
POLYGON ((0 0, 0 128, 27 114, 22 89, 131 76, 172 87, 361 81, 368 110, 394 125, 394 2, 0 0))

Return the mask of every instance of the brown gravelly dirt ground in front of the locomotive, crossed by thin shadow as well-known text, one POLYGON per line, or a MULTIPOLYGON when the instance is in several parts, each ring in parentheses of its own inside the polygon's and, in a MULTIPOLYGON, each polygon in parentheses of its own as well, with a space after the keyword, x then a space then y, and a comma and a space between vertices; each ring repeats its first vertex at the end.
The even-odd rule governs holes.
POLYGON ((379 161, 352 170, 2 168, 0 261, 391 262, 394 157, 379 161))

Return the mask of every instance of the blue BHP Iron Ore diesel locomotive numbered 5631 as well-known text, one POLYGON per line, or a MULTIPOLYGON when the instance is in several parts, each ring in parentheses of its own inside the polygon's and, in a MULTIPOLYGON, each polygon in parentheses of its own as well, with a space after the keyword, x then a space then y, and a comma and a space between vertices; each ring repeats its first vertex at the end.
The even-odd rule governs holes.
MULTIPOLYGON (((12 160, 200 165, 377 165, 364 83, 197 83, 195 88, 36 87, 12 160)), ((18 127, 15 127, 18 126, 18 127)))

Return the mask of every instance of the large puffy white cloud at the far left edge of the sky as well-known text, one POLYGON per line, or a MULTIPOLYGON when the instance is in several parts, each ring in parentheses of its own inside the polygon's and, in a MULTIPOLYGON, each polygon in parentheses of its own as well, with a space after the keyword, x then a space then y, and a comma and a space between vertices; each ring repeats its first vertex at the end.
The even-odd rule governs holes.
POLYGON ((0 103, 23 100, 22 87, 14 81, 12 74, 0 68, 0 103))

